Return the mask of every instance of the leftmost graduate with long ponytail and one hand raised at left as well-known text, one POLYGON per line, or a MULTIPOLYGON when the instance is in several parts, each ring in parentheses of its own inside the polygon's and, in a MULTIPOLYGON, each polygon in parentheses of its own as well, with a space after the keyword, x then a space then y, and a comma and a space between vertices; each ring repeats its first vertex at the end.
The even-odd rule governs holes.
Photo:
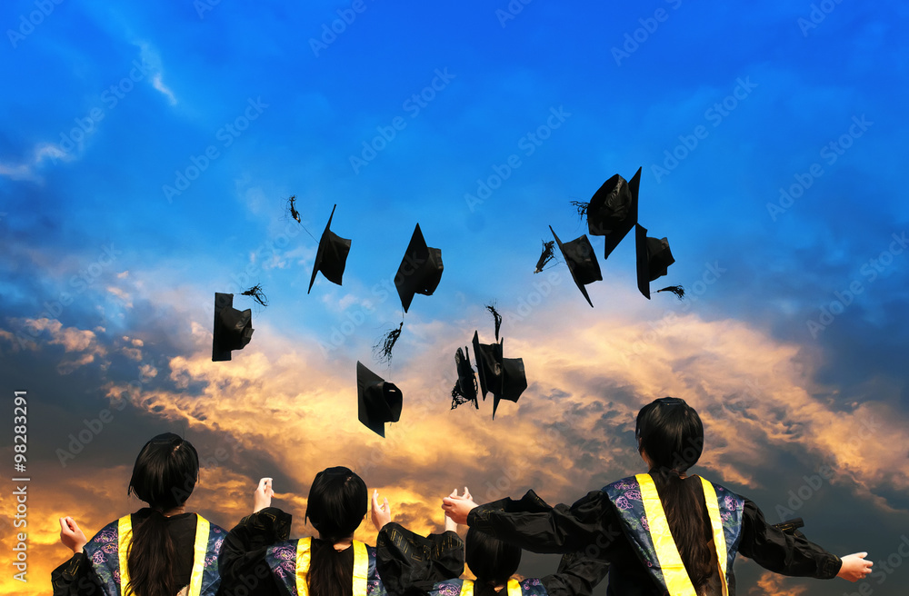
POLYGON ((91 541, 72 517, 60 518, 60 541, 74 554, 51 574, 54 596, 215 596, 227 532, 186 512, 198 480, 192 443, 173 432, 146 442, 127 494, 148 507, 107 524, 91 541))

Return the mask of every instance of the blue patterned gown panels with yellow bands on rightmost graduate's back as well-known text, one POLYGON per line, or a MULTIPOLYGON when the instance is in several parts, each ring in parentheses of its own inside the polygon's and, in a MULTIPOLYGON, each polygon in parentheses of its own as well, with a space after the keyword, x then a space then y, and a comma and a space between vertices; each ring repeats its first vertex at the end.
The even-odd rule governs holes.
MULTIPOLYGON (((742 538, 744 499, 703 478, 701 486, 725 594, 725 584, 730 581, 735 552, 742 538)), ((624 478, 605 486, 603 492, 619 513, 625 535, 654 579, 672 594, 694 594, 650 475, 624 478)))

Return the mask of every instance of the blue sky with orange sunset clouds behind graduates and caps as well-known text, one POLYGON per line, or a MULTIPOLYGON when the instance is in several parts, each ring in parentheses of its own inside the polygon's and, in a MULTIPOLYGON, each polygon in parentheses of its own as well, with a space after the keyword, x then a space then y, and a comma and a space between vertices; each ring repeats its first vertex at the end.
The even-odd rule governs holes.
MULTIPOLYGON (((693 472, 875 561, 862 588, 740 558, 739 593, 904 593, 907 13, 4 3, 2 590, 50 593, 69 555, 58 517, 91 535, 143 506, 126 486, 160 432, 195 444, 188 507, 225 527, 270 476, 305 535, 315 473, 347 465, 396 521, 437 531, 455 486, 478 502, 531 488, 573 502, 644 472, 634 416, 674 395, 704 420, 693 472), (607 260, 590 238, 593 308, 558 252, 534 274, 549 226, 586 233, 571 202, 638 168, 639 221, 675 258, 652 288, 684 299, 638 293, 630 237, 607 260), (318 275, 306 293, 333 208, 352 241, 343 285, 318 275), (445 271, 405 314, 393 280, 416 224, 445 271), (267 307, 235 296, 252 342, 211 362, 214 293, 255 283, 267 307), (491 399, 450 410, 454 351, 474 331, 494 342, 486 304, 528 381, 495 420, 491 399), (376 362, 402 320, 391 363, 376 362), (358 361, 403 392, 385 439, 357 421, 358 361), (26 583, 10 564, 21 477, 26 583)), ((556 562, 525 555, 520 571, 556 562)))

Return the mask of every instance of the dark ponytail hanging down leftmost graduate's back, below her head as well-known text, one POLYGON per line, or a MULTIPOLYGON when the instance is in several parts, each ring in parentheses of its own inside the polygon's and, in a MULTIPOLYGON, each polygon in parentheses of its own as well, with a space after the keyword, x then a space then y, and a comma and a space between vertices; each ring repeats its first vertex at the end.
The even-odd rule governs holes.
POLYGON ((124 586, 125 596, 174 596, 182 587, 175 579, 176 546, 161 512, 153 510, 133 530, 126 553, 129 585, 124 586))

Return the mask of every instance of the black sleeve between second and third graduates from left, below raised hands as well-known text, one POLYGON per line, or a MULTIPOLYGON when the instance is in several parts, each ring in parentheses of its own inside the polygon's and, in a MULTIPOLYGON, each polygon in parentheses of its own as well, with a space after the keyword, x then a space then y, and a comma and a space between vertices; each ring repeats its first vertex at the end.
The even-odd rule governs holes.
POLYGON ((464 541, 454 531, 423 537, 393 521, 379 531, 375 551, 376 570, 391 594, 428 591, 464 572, 464 541))

